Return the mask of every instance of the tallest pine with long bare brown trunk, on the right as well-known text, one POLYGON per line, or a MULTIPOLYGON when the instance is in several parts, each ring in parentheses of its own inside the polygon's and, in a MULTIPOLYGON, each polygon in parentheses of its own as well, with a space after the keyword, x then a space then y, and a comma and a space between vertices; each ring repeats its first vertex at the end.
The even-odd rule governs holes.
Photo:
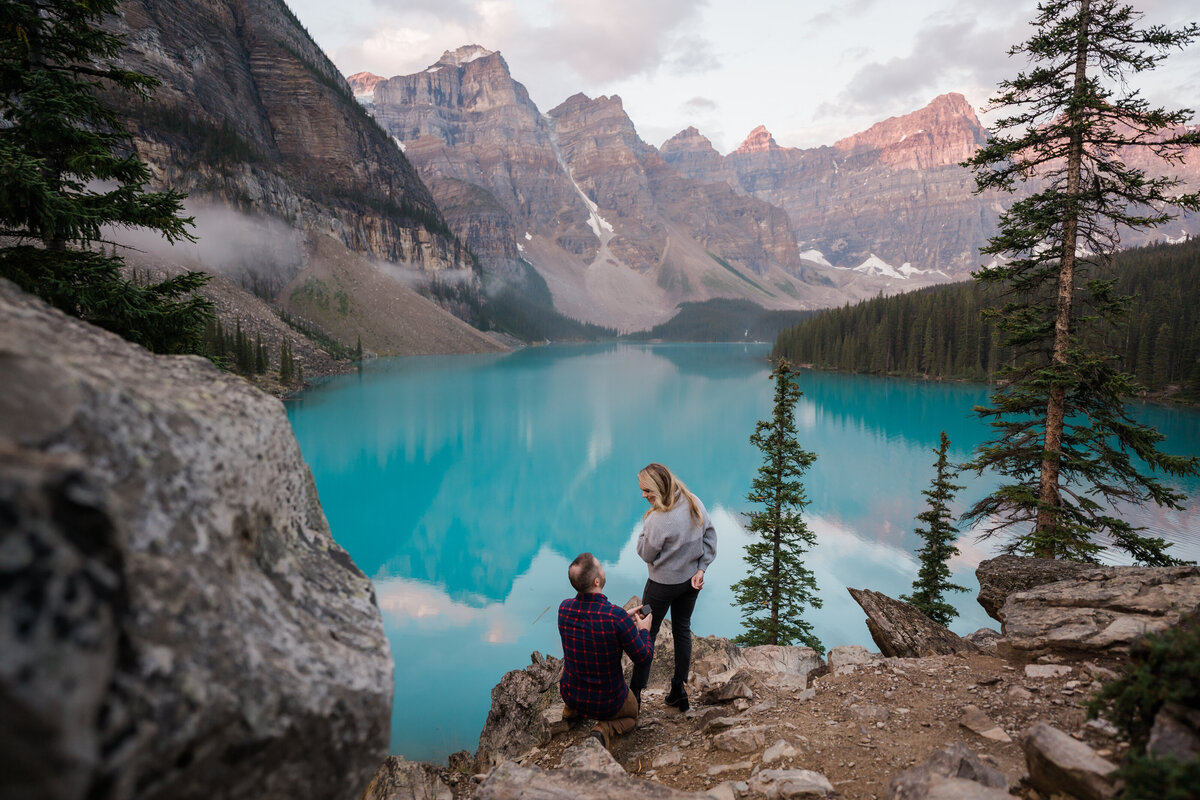
POLYGON ((1178 181, 1148 176, 1126 155, 1144 149, 1177 162, 1200 143, 1200 134, 1171 133, 1192 112, 1152 109, 1136 91, 1116 91, 1200 26, 1140 29, 1139 20, 1117 0, 1044 0, 1034 34, 1009 50, 1031 68, 992 100, 1010 115, 966 162, 979 191, 1014 191, 1033 176, 1043 187, 1001 215, 1000 233, 982 249, 1006 260, 976 272, 1001 291, 1004 305, 991 318, 1015 359, 991 405, 979 409, 996 435, 970 463, 1009 482, 965 519, 984 521, 984 536, 1015 533, 1010 552, 1093 561, 1108 540, 1139 563, 1172 563, 1165 541, 1140 535, 1112 509, 1178 509, 1184 497, 1150 471, 1194 474, 1200 465, 1159 451, 1163 435, 1126 408, 1132 378, 1081 336, 1123 309, 1112 281, 1094 277, 1121 231, 1168 221, 1170 205, 1200 209, 1200 196, 1175 194, 1178 181))

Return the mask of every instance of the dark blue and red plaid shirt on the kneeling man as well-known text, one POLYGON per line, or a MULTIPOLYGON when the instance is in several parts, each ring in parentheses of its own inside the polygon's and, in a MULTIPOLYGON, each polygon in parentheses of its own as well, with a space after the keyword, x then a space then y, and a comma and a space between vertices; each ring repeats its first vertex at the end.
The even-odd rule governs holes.
POLYGON ((558 690, 572 711, 593 720, 612 718, 629 696, 620 669, 628 652, 638 667, 649 667, 654 643, 634 618, 600 593, 575 595, 558 606, 563 637, 563 678, 558 690))

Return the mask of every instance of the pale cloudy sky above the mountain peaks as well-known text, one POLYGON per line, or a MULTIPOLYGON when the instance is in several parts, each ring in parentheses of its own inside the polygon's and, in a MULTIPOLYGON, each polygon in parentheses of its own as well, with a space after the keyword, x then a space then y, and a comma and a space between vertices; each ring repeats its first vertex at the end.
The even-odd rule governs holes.
MULTIPOLYGON (((344 74, 385 77, 444 50, 500 50, 542 112, 620 95, 660 145, 695 125, 726 152, 757 125, 792 146, 832 144, 959 91, 976 108, 1021 66, 1036 0, 287 0, 344 74)), ((1135 0, 1146 23, 1200 22, 1195 0, 1135 0)), ((1200 44, 1136 84, 1200 107, 1200 44)), ((985 118, 986 121, 986 118, 985 118)))

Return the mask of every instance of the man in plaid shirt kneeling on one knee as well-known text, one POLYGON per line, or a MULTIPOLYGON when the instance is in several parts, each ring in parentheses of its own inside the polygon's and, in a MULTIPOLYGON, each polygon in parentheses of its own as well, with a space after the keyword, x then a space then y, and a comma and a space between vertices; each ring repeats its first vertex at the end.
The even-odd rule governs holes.
POLYGON ((637 724, 637 698, 629 691, 620 669, 620 654, 634 664, 649 668, 654 658, 650 615, 632 615, 613 606, 601 594, 604 567, 592 553, 583 553, 566 571, 578 593, 558 607, 558 633, 563 637, 563 678, 558 690, 566 710, 564 718, 596 720, 590 735, 612 747, 613 736, 637 724))

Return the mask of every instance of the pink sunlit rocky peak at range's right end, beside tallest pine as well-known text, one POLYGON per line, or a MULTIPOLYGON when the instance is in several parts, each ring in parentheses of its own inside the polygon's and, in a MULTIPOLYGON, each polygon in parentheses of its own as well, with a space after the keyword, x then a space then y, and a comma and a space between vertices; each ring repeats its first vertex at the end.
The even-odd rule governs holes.
POLYGON ((862 133, 834 143, 844 152, 880 151, 893 169, 931 169, 958 164, 986 142, 967 98, 958 92, 940 95, 911 114, 893 116, 862 133))

